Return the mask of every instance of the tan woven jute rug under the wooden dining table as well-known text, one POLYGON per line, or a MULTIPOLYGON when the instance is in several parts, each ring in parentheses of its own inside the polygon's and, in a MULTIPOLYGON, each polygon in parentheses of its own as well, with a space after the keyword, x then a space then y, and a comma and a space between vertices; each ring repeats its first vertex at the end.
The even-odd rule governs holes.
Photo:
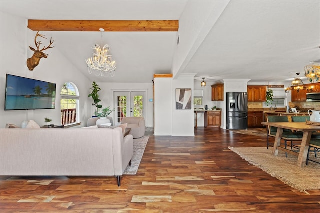
MULTIPOLYGON (((320 190, 320 164, 318 163, 309 161, 308 165, 301 168, 296 165, 297 156, 288 154, 288 157, 285 157, 284 151, 279 151, 278 156, 274 156, 271 154, 272 149, 266 149, 266 147, 229 147, 229 149, 292 188, 306 194, 308 194, 306 190, 320 190)), ((310 158, 315 159, 314 153, 310 153, 310 158)))

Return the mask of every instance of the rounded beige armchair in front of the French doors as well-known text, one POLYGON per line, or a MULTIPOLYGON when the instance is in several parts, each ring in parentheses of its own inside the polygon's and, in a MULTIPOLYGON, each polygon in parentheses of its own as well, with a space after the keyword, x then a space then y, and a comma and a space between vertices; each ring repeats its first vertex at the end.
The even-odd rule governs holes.
POLYGON ((140 138, 145 133, 145 121, 144 117, 124 117, 121 123, 127 123, 127 128, 130 128, 130 133, 133 138, 140 138))

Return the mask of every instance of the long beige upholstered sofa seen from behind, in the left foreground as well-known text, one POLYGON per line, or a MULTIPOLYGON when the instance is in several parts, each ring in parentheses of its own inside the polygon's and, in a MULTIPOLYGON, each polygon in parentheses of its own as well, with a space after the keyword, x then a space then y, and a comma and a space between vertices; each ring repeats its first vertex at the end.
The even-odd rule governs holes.
POLYGON ((0 175, 120 176, 133 156, 122 128, 0 129, 0 175))

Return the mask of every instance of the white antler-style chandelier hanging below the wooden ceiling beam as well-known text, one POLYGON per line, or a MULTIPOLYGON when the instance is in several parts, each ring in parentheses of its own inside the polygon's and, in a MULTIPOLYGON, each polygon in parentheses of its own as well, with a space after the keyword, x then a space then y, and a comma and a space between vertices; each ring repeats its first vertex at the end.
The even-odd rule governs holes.
MULTIPOLYGON (((102 40, 104 29, 100 28, 100 31, 102 40)), ((112 60, 112 55, 108 55, 110 51, 109 45, 105 44, 103 48, 101 48, 99 44, 96 43, 92 49, 95 49, 95 52, 92 52, 93 56, 85 60, 89 73, 91 74, 93 72, 96 76, 114 77, 116 63, 112 60)))

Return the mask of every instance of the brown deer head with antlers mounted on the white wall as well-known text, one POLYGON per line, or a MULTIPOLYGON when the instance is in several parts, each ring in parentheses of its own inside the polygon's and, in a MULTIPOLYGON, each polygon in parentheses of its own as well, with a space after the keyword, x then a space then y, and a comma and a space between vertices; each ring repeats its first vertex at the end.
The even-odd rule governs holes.
POLYGON ((54 46, 51 46, 52 43, 54 42, 54 41, 52 41, 52 37, 51 37, 51 39, 50 39, 50 44, 48 45, 48 47, 45 47, 45 46, 44 46, 41 50, 39 50, 40 44, 42 44, 42 42, 41 42, 41 41, 36 41, 36 38, 37 38, 38 36, 46 39, 46 37, 44 37, 44 35, 42 35, 42 34, 39 34, 39 31, 38 31, 38 32, 36 33, 36 35, 35 35, 35 38, 34 38, 34 43, 35 43, 35 46, 36 46, 37 49, 35 50, 35 49, 32 48, 31 46, 29 46, 30 49, 31 49, 32 51, 34 51, 32 57, 30 57, 30 58, 28 58, 28 59, 26 60, 26 65, 28 66, 28 68, 29 68, 30 71, 32 71, 35 66, 39 65, 40 59, 41 59, 42 57, 44 57, 44 58, 47 58, 47 57, 48 57, 48 54, 45 54, 43 51, 46 50, 46 49, 49 49, 49 48, 53 48, 53 47, 54 47, 54 46))

